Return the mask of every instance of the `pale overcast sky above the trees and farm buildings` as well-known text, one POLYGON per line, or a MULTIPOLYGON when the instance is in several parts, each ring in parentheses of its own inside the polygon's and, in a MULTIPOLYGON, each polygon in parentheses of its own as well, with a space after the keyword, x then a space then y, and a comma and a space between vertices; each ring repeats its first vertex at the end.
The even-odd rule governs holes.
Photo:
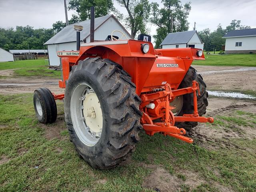
MULTIPOLYGON (((67 0, 68 1, 68 0, 67 0)), ((150 0, 150 2, 161 0, 150 0)), ((188 2, 181 0, 182 3, 188 2)), ((115 2, 122 13, 126 10, 115 2)), ((215 30, 219 23, 225 28, 233 19, 242 25, 256 28, 256 0, 191 0, 188 16, 190 30, 196 22, 196 30, 215 30)), ((74 11, 68 11, 71 18, 74 11)), ((64 0, 0 0, 0 27, 10 28, 30 25, 34 28, 51 28, 58 20, 65 22, 64 0)), ((156 27, 152 26, 151 35, 156 27)))

